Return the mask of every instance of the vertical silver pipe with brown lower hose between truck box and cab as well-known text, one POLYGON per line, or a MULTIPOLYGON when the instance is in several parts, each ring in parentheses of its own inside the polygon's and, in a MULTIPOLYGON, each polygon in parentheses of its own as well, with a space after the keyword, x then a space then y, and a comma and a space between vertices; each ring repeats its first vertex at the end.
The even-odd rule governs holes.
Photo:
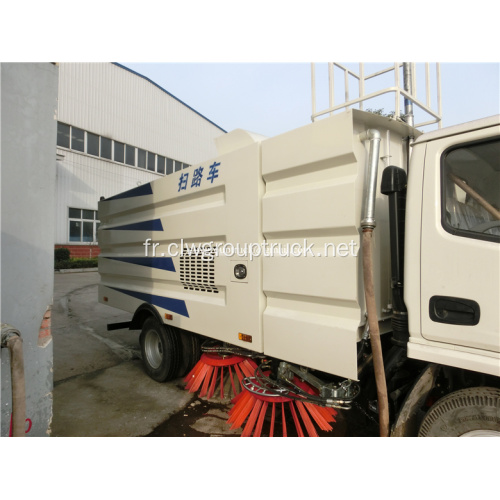
POLYGON ((380 342, 375 288, 373 283, 373 230, 375 229, 375 199, 377 194, 378 159, 380 153, 380 132, 367 130, 359 135, 362 142, 370 141, 368 170, 366 172, 364 209, 361 219, 363 230, 363 279, 365 286, 366 312, 370 329, 370 343, 373 354, 373 369, 377 386, 379 429, 381 437, 389 437, 389 400, 387 397, 387 382, 385 379, 384 358, 380 342))

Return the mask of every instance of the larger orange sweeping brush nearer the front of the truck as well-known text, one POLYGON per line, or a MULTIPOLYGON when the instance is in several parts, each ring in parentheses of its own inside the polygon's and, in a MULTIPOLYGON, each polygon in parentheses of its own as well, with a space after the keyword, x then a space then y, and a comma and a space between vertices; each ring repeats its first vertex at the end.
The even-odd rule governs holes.
MULTIPOLYGON (((300 387, 303 391, 311 395, 315 394, 315 391, 312 387, 300 381, 297 377, 294 378, 293 383, 300 387)), ((321 430, 332 430, 330 422, 335 422, 335 416, 337 415, 337 411, 334 408, 327 408, 307 401, 300 401, 299 398, 292 399, 286 396, 277 396, 275 392, 269 391, 260 386, 255 377, 246 378, 242 387, 244 390, 236 398, 234 398, 233 402, 235 403, 235 405, 229 411, 229 419, 227 421, 228 424, 232 424, 232 430, 241 427, 248 417, 248 421, 241 434, 242 437, 251 436, 252 431, 253 436, 255 437, 259 437, 261 435, 264 419, 266 417, 266 412, 269 406, 271 406, 271 424, 269 437, 273 437, 274 425, 276 421, 276 406, 278 405, 280 406, 281 410, 283 437, 287 436, 285 412, 285 408, 287 407, 292 415, 293 422, 297 430, 297 435, 299 437, 304 437, 304 432, 302 430, 302 426, 300 425, 299 415, 304 422, 307 434, 311 437, 318 436, 312 420, 316 422, 321 430), (251 388, 251 391, 248 389, 248 387, 251 388)))

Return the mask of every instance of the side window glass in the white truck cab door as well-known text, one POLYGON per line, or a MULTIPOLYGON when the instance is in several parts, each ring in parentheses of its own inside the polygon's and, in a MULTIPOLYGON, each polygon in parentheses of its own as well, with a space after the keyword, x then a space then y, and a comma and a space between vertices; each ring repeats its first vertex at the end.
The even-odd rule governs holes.
POLYGON ((500 241, 500 140, 446 151, 442 186, 442 224, 446 231, 500 241))

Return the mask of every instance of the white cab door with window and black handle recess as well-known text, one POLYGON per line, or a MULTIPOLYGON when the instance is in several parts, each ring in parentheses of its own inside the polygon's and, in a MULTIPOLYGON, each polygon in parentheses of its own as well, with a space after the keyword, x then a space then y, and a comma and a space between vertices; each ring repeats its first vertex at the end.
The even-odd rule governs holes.
POLYGON ((427 144, 421 328, 428 341, 500 351, 500 126, 427 144))

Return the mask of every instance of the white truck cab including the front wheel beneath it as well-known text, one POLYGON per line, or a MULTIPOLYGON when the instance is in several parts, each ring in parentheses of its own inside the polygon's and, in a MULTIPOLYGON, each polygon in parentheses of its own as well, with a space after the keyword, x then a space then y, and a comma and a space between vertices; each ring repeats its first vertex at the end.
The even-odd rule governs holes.
POLYGON ((407 356, 393 436, 498 435, 500 116, 420 136, 408 172, 407 356))

